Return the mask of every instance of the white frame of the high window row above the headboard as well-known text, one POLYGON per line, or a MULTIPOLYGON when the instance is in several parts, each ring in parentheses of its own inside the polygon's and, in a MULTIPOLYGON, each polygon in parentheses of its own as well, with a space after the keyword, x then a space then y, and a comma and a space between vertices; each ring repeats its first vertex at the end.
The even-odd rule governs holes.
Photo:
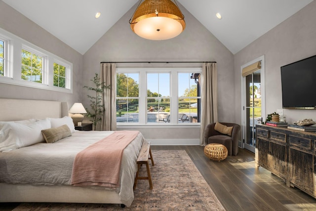
POLYGON ((0 76, 0 83, 21 85, 33 88, 73 93, 73 64, 59 56, 52 54, 31 42, 25 41, 0 28, 0 38, 5 40, 6 65, 4 76, 0 76), (42 83, 30 82, 21 79, 22 49, 43 57, 42 83), (67 87, 57 87, 53 84, 54 61, 61 62, 67 67, 67 87))

